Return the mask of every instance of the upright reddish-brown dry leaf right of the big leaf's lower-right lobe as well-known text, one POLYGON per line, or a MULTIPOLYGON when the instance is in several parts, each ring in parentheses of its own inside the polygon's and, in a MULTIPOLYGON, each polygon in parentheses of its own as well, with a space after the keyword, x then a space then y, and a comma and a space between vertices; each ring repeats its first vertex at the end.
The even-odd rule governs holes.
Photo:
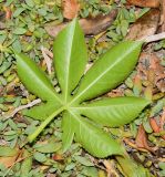
POLYGON ((140 125, 140 127, 138 127, 138 132, 137 132, 137 136, 136 136, 135 142, 136 142, 137 147, 145 148, 149 152, 153 152, 153 148, 148 146, 147 135, 145 133, 143 125, 140 125))

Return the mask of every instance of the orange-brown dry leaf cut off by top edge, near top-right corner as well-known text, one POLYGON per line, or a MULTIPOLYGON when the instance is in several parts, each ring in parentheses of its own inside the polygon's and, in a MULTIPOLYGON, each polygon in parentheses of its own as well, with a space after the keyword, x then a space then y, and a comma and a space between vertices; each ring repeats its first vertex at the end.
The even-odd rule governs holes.
POLYGON ((127 4, 133 4, 137 7, 146 7, 146 8, 158 8, 159 0, 127 0, 127 4))

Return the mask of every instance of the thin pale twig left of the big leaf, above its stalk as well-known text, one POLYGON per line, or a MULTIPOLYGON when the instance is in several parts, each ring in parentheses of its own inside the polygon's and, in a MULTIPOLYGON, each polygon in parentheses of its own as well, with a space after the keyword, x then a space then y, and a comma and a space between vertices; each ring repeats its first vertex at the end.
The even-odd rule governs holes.
POLYGON ((39 104, 39 103, 41 103, 41 100, 37 98, 37 100, 32 101, 31 103, 29 103, 27 105, 22 105, 22 106, 17 107, 12 113, 4 114, 3 116, 4 116, 4 118, 13 117, 19 111, 32 107, 32 106, 34 106, 35 104, 39 104))

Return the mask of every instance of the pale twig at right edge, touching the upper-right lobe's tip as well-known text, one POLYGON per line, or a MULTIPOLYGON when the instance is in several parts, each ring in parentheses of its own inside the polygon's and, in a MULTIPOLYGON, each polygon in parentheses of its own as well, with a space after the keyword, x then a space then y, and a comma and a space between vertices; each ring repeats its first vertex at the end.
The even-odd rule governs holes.
POLYGON ((149 43, 149 42, 159 41, 159 40, 163 40, 163 39, 165 39, 165 32, 145 37, 145 38, 141 39, 140 41, 144 41, 146 43, 149 43))

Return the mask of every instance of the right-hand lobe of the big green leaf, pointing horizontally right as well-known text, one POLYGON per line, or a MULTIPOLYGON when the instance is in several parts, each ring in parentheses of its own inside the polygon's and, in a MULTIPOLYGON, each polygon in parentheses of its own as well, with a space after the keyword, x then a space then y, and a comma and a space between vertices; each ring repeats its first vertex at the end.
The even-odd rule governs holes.
POLYGON ((140 97, 103 98, 75 107, 95 123, 105 126, 121 126, 132 122, 149 104, 140 97))

